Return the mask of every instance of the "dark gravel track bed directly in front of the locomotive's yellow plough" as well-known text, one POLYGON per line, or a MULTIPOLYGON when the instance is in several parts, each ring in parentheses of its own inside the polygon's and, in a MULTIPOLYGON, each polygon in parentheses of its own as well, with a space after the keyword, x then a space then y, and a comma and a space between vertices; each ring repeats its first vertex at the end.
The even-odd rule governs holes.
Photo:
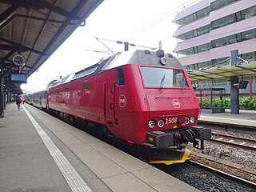
POLYGON ((255 191, 256 183, 194 161, 171 166, 154 165, 171 176, 202 191, 255 191))

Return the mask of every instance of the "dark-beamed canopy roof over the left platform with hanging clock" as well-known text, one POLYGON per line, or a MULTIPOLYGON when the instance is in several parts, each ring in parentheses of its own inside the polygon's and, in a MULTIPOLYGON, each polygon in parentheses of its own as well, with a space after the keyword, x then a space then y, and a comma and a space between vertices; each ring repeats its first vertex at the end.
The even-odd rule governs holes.
POLYGON ((20 84, 10 82, 10 74, 33 74, 102 2, 0 0, 0 70, 5 89, 20 91, 20 84))

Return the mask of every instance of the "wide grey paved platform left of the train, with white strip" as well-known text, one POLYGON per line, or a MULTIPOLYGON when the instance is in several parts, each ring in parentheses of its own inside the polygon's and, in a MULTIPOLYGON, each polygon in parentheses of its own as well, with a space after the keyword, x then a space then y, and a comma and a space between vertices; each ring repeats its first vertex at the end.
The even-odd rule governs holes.
POLYGON ((0 191, 198 191, 25 104, 0 118, 0 191))

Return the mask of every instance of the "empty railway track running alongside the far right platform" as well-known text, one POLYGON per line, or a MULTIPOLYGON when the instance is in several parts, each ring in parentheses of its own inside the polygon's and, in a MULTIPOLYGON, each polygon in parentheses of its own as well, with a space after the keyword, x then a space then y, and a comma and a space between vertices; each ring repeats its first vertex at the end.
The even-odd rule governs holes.
POLYGON ((219 134, 212 133, 214 138, 211 138, 211 142, 218 142, 230 146, 241 147, 246 150, 255 150, 256 151, 256 140, 250 138, 241 138, 238 136, 230 135, 230 134, 219 134))

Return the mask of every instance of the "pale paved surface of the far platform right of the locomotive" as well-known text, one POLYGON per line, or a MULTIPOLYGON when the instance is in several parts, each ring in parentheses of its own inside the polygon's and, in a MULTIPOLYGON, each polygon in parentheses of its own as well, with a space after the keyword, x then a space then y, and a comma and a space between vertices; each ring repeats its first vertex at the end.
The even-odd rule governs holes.
POLYGON ((256 111, 240 110, 239 114, 230 114, 230 110, 225 110, 225 113, 202 113, 198 120, 256 127, 256 111))

